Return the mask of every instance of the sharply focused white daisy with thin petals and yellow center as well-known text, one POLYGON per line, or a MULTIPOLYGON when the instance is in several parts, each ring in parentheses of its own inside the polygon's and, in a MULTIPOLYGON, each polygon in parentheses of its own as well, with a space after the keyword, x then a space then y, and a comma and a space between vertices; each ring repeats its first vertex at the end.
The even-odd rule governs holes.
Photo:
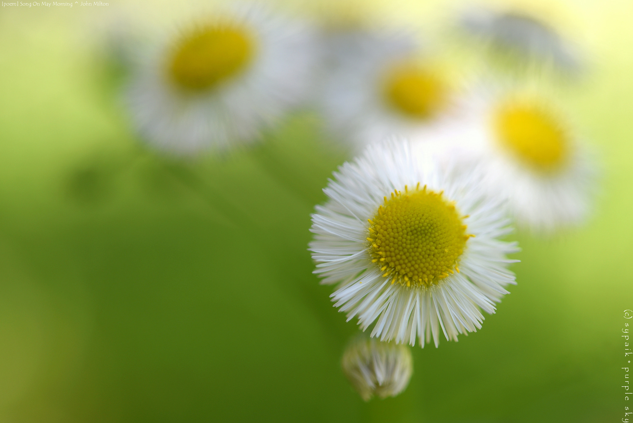
POLYGON ((477 172, 439 168, 408 142, 370 146, 335 172, 316 206, 310 243, 315 274, 339 284, 332 301, 381 341, 424 346, 439 333, 457 340, 484 320, 480 308, 515 283, 506 254, 515 243, 499 202, 477 172), (419 161, 418 161, 419 160, 419 161))

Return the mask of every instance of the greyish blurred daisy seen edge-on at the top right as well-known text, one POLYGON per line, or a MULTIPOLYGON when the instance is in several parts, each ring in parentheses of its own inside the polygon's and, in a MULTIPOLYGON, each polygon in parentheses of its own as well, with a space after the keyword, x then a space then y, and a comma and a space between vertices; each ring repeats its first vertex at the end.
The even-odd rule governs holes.
POLYGON ((461 27, 522 63, 536 60, 568 71, 580 68, 578 53, 570 43, 527 11, 472 8, 461 16, 461 27))

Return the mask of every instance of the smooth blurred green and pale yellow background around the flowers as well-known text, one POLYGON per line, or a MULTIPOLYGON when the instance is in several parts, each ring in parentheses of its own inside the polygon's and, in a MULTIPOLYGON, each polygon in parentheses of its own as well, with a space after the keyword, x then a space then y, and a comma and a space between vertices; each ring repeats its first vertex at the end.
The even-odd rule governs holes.
MULTIPOLYGON (((451 10, 375 3, 422 25, 451 10)), ((318 118, 296 113, 222 157, 161 158, 130 131, 94 25, 122 5, 1 8, 0 422, 620 421, 633 9, 570 4, 588 76, 544 85, 600 162, 592 217, 513 234, 518 285, 498 312, 458 343, 413 348, 408 389, 369 403, 339 367, 356 325, 306 249, 346 160, 318 118)))

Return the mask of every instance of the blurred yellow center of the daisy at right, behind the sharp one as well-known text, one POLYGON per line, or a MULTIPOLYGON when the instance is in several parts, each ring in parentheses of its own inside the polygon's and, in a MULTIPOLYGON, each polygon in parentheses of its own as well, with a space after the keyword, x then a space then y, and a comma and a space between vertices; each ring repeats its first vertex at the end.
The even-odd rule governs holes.
POLYGON ((560 123, 537 106, 510 104, 495 116, 499 142, 539 170, 560 167, 568 154, 568 139, 560 123))

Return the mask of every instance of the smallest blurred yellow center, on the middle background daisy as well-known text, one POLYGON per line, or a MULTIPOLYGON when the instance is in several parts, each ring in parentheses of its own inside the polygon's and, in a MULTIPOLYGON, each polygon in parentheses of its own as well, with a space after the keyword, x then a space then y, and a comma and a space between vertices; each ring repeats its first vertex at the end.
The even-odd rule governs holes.
POLYGON ((384 89, 394 109, 415 119, 432 117, 446 99, 446 89, 436 73, 411 65, 394 68, 384 89))

